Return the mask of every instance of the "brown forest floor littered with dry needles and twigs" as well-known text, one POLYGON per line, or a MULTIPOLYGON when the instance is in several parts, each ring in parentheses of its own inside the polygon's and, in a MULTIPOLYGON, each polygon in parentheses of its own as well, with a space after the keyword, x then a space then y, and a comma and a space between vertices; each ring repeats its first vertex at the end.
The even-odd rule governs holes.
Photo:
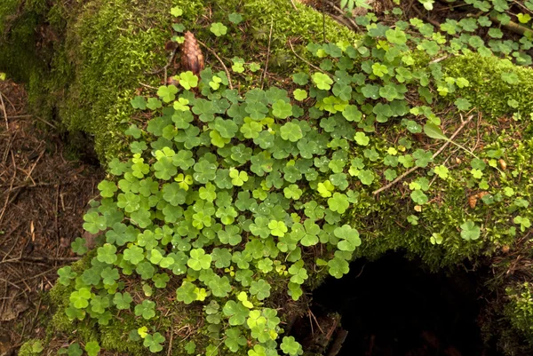
MULTIPOLYGON (((44 332, 44 291, 76 260, 87 203, 104 176, 53 123, 28 114, 23 85, 0 81, 0 355, 44 332)), ((89 158, 88 158, 89 157, 89 158)))

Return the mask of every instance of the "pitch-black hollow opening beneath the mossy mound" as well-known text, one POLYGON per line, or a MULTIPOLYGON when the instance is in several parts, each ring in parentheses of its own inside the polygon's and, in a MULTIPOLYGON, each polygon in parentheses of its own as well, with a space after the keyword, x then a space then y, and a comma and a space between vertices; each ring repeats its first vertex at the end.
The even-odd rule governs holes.
MULTIPOLYGON (((354 261, 344 278, 325 281, 314 291, 312 311, 330 333, 330 356, 340 330, 332 332, 335 312, 348 331, 337 356, 497 356, 481 340, 479 289, 475 273, 429 273, 420 262, 391 253, 354 261)), ((291 331, 306 350, 318 351, 328 336, 315 321, 311 336, 311 319, 297 320, 291 331)))

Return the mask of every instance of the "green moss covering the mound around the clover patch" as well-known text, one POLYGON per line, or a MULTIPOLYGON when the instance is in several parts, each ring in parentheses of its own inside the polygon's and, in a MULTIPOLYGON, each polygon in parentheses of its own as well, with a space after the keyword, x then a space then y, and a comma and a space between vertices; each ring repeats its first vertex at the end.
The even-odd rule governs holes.
MULTIPOLYGON (((290 47, 287 48, 289 42, 297 44, 295 51, 298 55, 316 61, 306 54, 301 44, 322 40, 322 26, 318 25, 322 24, 322 15, 304 6, 298 6, 298 12, 295 12, 289 2, 281 0, 274 4, 255 0, 242 5, 236 1, 223 4, 170 0, 133 3, 125 0, 91 1, 70 4, 69 7, 64 4, 40 7, 32 3, 19 6, 19 2, 12 1, 0 8, 0 24, 4 25, 3 35, 8 39, 0 45, 0 51, 4 53, 0 56, 0 68, 6 68, 29 83, 36 110, 44 115, 57 115, 69 131, 85 131, 94 135, 99 157, 107 163, 123 152, 127 144, 123 129, 131 123, 131 117, 135 117, 139 126, 143 126, 147 119, 134 113, 131 99, 142 93, 143 88, 160 84, 160 78, 147 73, 163 67, 167 60, 169 53, 164 51, 164 44, 171 32, 169 12, 173 5, 182 8, 185 27, 194 31, 223 59, 240 56, 245 60, 266 61, 268 57, 268 67, 275 75, 272 81, 274 78, 284 79, 294 72, 295 67, 308 68, 294 56, 290 47), (239 33, 243 37, 212 36, 208 25, 224 21, 235 9, 248 20, 246 31, 239 33), (211 18, 205 19, 205 14, 211 18), (36 36, 35 28, 39 27, 44 28, 40 34, 43 38, 36 36), (297 36, 301 37, 299 42, 294 38, 297 36), (50 42, 45 43, 44 39, 50 42), (257 52, 259 56, 255 55, 257 52), (44 58, 44 63, 37 62, 37 57, 44 58), (20 61, 17 60, 19 58, 20 61)), ((231 30, 241 29, 235 27, 231 30)), ((351 43, 360 38, 329 19, 326 19, 325 35, 332 43, 351 43)), ((218 65, 215 59, 211 59, 211 63, 218 65)), ((519 212, 522 218, 529 216, 524 210, 524 203, 517 201, 530 200, 533 187, 529 178, 533 176, 533 135, 529 127, 533 72, 515 67, 505 60, 481 58, 475 54, 445 60, 442 71, 470 82, 469 88, 449 97, 460 95, 478 108, 477 117, 468 117, 472 125, 466 126, 455 139, 463 145, 477 147, 489 165, 497 165, 507 174, 505 178, 497 173, 487 174, 483 183, 473 176, 479 174, 477 170, 481 170, 481 162, 473 165, 472 157, 463 151, 455 151, 434 159, 435 165, 455 161, 454 169, 446 178, 438 179, 435 171, 430 172, 429 178, 414 171, 401 184, 391 186, 380 194, 372 194, 372 190, 354 179, 362 194, 354 202, 349 223, 365 236, 362 248, 356 250, 357 256, 376 258, 387 250, 405 249, 410 256, 422 257, 427 265, 438 269, 457 265, 465 258, 475 262, 484 255, 492 256, 500 249, 512 246, 517 236, 525 233, 520 231, 522 225, 514 222, 513 218, 519 212), (505 80, 504 75, 508 74, 516 77, 513 83, 505 80), (512 100, 513 106, 509 104, 512 100), (516 138, 521 140, 517 142, 516 138), (411 190, 423 191, 434 197, 434 203, 414 203, 410 199, 411 190), (482 226, 481 239, 465 239, 458 227, 465 221, 482 226)), ((239 79, 243 80, 239 83, 239 91, 245 91, 252 83, 247 82, 246 77, 239 79)), ((451 100, 443 100, 434 111, 442 110, 444 113, 448 109, 446 103, 451 100)), ((466 120, 467 115, 463 119, 466 120)), ((449 134, 459 128, 462 124, 460 120, 457 112, 442 114, 442 122, 449 134)), ((376 131, 372 145, 385 153, 390 148, 389 143, 398 141, 403 135, 405 131, 399 125, 385 125, 376 131)), ((409 149, 406 146, 418 144, 429 145, 436 151, 443 141, 432 143, 427 138, 420 138, 418 143, 405 141, 400 146, 409 149)), ((349 154, 353 158, 371 157, 372 153, 367 153, 367 148, 360 145, 349 154)), ((378 172, 377 180, 385 186, 382 173, 386 167, 379 162, 371 167, 378 172)), ((74 265, 73 271, 84 273, 90 267, 89 262, 87 258, 74 265)), ((310 287, 318 284, 325 275, 325 271, 314 274, 310 287)), ((169 289, 176 287, 172 285, 169 289)), ((139 295, 143 293, 140 283, 133 289, 139 295)), ((68 307, 69 296, 74 290, 75 286, 60 284, 54 288, 52 297, 59 306, 59 312, 54 317, 54 326, 47 341, 55 337, 55 332, 68 338, 76 328, 79 340, 84 343, 98 340, 107 351, 147 352, 139 343, 131 343, 128 339, 131 329, 144 326, 144 320, 134 318, 131 313, 126 313, 120 322, 115 320, 109 326, 88 320, 76 322, 73 326, 63 309, 68 307)), ((523 297, 522 294, 520 300, 520 305, 528 305, 530 296, 523 297)), ((195 323, 202 320, 199 316, 201 307, 184 309, 176 301, 163 305, 164 311, 160 311, 158 318, 150 321, 151 324, 158 325, 160 329, 202 329, 195 328, 195 323)), ((506 315, 514 320, 513 327, 521 332, 528 330, 528 315, 524 317, 514 312, 513 307, 509 308, 507 310, 511 312, 506 315)), ((205 330, 202 332, 207 333, 205 330)), ((206 338, 206 335, 180 335, 194 338, 198 344, 206 338)), ((177 344, 174 344, 173 353, 184 354, 184 346, 177 344)))

